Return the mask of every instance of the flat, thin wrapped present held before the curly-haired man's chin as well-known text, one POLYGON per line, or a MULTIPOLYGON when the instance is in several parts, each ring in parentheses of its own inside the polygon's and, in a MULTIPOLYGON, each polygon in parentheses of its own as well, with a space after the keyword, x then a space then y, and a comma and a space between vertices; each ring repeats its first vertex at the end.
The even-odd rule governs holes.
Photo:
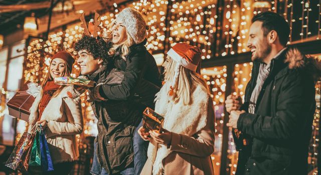
POLYGON ((78 86, 85 86, 85 87, 93 87, 94 82, 89 79, 84 78, 74 78, 71 76, 62 76, 62 77, 55 77, 55 83, 61 85, 78 85, 78 86))

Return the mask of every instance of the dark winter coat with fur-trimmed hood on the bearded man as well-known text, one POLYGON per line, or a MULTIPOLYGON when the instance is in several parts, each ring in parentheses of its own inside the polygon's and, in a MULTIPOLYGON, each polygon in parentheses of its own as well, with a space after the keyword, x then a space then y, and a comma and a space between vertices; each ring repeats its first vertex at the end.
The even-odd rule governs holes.
MULTIPOLYGON (((287 48, 271 60, 270 73, 256 102, 255 113, 242 113, 237 128, 253 138, 250 157, 240 152, 237 174, 307 174, 308 145, 315 110, 313 66, 298 50, 287 48), (244 166, 244 164, 245 166, 244 166), (242 165, 243 164, 243 165, 242 165)), ((248 111, 259 72, 252 77, 241 109, 248 111)))

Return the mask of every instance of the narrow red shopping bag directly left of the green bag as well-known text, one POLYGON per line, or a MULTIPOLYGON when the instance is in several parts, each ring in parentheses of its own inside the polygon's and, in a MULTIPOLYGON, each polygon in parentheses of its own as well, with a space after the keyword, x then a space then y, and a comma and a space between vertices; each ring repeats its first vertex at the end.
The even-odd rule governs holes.
POLYGON ((17 169, 19 169, 20 171, 28 171, 30 155, 31 155, 32 145, 35 140, 35 135, 36 135, 35 132, 31 135, 29 142, 26 146, 26 151, 24 151, 24 153, 22 154, 21 160, 19 161, 17 169))

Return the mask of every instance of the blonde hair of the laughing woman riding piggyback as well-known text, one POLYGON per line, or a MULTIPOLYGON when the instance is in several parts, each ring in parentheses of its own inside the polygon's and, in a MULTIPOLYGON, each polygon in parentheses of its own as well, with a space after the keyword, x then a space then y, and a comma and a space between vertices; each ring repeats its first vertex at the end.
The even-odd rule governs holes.
MULTIPOLYGON (((116 20, 113 20, 109 26, 109 30, 107 30, 104 33, 104 39, 105 40, 112 40, 112 30, 111 28, 114 26, 116 20)), ((112 47, 109 49, 108 54, 109 55, 114 55, 116 50, 121 47, 121 57, 126 60, 126 56, 129 53, 129 47, 135 43, 134 39, 130 36, 128 30, 126 29, 126 36, 127 39, 122 41, 121 43, 118 44, 113 44, 112 47)))

